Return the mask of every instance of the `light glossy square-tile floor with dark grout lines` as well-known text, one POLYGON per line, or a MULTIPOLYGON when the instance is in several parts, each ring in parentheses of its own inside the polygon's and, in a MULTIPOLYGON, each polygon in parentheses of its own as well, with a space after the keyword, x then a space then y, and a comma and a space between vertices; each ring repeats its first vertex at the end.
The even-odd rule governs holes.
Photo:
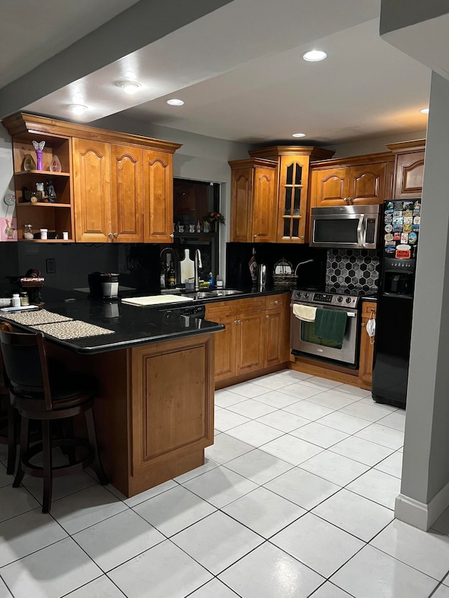
POLYGON ((283 371, 215 393, 204 466, 125 499, 0 459, 0 598, 449 598, 449 512, 394 519, 405 412, 283 371))

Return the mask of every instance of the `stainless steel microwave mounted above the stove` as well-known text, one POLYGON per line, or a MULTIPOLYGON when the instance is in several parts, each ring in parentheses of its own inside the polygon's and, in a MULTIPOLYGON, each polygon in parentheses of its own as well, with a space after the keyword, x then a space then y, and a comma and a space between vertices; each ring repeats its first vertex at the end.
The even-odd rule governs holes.
POLYGON ((310 246, 376 249, 380 211, 380 205, 336 205, 333 208, 312 208, 310 246))

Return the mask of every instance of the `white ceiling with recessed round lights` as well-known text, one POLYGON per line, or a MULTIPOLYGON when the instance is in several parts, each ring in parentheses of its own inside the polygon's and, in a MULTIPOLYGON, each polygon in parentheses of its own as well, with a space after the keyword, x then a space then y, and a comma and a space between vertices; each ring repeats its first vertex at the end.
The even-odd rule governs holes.
MULTIPOLYGON (((4 11, 2 3, 0 36, 6 27, 11 43, 0 56, 1 87, 135 0, 68 4, 41 0, 36 11, 34 0, 6 0, 4 11), (33 33, 18 47, 24 13, 33 33)), ((380 0, 234 0, 18 109, 74 120, 67 104, 79 102, 86 123, 123 112, 250 144, 294 143, 293 132, 307 133, 302 144, 335 144, 423 130, 431 71, 380 38, 379 15, 380 0), (327 60, 304 62, 311 48, 327 60), (136 95, 116 85, 126 78, 142 83, 136 95), (169 107, 168 97, 185 105, 169 107)))

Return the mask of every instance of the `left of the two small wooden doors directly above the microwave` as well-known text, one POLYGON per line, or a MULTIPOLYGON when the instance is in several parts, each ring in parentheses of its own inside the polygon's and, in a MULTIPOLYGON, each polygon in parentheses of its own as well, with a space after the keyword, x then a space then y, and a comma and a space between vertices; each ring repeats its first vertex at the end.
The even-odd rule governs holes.
POLYGON ((323 168, 311 173, 311 207, 347 205, 349 168, 323 168))

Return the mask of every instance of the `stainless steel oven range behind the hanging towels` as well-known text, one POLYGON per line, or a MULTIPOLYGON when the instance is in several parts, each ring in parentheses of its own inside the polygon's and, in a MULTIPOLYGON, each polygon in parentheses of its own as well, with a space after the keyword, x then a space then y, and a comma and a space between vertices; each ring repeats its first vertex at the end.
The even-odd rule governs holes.
POLYGON ((320 358, 339 362, 347 367, 356 367, 360 326, 360 297, 346 294, 293 291, 290 304, 290 349, 293 355, 320 358), (347 320, 341 344, 319 338, 314 331, 315 322, 306 322, 293 313, 295 305, 346 311, 347 320))

